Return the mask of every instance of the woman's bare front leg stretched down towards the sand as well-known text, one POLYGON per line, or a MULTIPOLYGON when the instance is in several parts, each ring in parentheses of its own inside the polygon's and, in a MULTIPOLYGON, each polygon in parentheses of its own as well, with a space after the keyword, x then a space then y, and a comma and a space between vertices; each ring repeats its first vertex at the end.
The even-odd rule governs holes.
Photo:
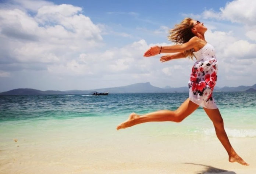
POLYGON ((205 109, 206 114, 209 116, 209 118, 213 122, 216 135, 220 140, 221 144, 224 146, 224 148, 228 152, 228 156, 229 156, 228 160, 230 162, 238 162, 242 165, 249 166, 249 164, 246 163, 240 156, 238 156, 235 150, 232 148, 230 141, 228 140, 228 136, 224 129, 224 123, 220 115, 220 111, 218 109, 207 109, 207 108, 203 108, 203 109, 205 109))

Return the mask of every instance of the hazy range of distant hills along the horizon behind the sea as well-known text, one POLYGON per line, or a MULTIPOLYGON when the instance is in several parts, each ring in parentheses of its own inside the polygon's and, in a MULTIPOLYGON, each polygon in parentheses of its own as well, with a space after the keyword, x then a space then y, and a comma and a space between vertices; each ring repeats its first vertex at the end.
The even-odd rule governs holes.
MULTIPOLYGON (((254 92, 256 84, 253 86, 238 86, 238 87, 215 87, 216 92, 239 92, 247 91, 254 92)), ((109 92, 110 94, 121 93, 188 93, 188 87, 172 88, 170 86, 159 88, 152 86, 149 82, 135 83, 127 86, 100 88, 95 90, 69 90, 69 91, 40 91, 30 88, 19 88, 0 93, 0 95, 53 95, 53 94, 93 94, 95 92, 109 92)))

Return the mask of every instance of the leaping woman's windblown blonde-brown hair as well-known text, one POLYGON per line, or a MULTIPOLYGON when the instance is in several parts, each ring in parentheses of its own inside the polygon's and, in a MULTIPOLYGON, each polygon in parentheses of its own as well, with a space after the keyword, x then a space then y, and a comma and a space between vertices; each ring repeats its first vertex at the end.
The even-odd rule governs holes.
MULTIPOLYGON (((179 24, 176 24, 173 29, 169 30, 170 35, 168 40, 175 42, 176 44, 184 44, 188 42, 195 35, 192 33, 191 29, 193 28, 193 19, 185 18, 179 24)), ((184 51, 185 57, 193 59, 193 48, 190 50, 184 51)))

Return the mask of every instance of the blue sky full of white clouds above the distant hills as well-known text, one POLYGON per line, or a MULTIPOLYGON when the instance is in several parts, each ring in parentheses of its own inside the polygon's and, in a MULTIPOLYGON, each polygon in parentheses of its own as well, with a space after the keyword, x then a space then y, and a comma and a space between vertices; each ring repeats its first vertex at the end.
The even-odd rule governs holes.
POLYGON ((185 17, 216 49, 216 86, 256 83, 255 0, 0 0, 0 92, 187 86, 195 61, 143 57, 185 17))

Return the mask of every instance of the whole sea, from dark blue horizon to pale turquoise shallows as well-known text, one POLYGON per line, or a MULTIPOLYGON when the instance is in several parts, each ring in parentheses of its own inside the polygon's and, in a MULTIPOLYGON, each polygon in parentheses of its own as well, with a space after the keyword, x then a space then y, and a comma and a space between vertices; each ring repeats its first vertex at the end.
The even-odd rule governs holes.
MULTIPOLYGON (((127 119, 131 112, 144 114, 160 109, 175 110, 188 97, 186 93, 93 95, 0 96, 0 137, 22 131, 106 130, 127 119)), ((214 98, 231 137, 256 137, 256 93, 214 93, 214 98)), ((182 123, 146 123, 141 127, 154 135, 214 135, 210 119, 202 107, 182 123)))

